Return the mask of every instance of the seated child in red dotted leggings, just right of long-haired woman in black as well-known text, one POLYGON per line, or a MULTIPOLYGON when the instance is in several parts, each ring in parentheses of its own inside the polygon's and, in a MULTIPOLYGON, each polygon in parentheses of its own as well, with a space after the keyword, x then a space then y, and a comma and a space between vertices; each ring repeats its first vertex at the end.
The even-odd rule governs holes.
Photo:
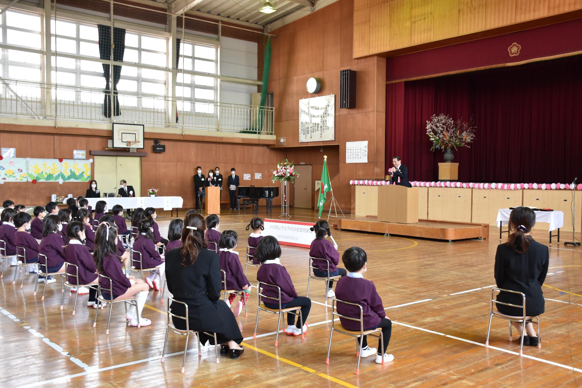
MULTIPOLYGON (((225 230, 222 232, 220 242, 220 253, 218 257, 220 260, 220 269, 226 273, 226 289, 239 290, 240 302, 236 302, 235 316, 239 316, 243 310, 244 304, 249 299, 250 294, 244 290, 251 289, 249 279, 244 276, 243 266, 240 264, 239 252, 233 251, 238 245, 239 235, 233 230, 225 230)), ((228 303, 232 306, 232 301, 235 300, 237 294, 230 294, 228 303)))

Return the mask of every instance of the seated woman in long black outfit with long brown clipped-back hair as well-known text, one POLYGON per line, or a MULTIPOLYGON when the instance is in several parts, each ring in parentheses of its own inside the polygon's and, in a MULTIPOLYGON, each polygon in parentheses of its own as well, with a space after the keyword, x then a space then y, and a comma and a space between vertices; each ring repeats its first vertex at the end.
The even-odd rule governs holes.
MULTIPOLYGON (((188 305, 188 322, 190 330, 198 331, 200 343, 214 337, 203 332, 217 333, 221 344, 221 355, 230 354, 230 358, 239 358, 244 349, 239 346, 243 341, 239 326, 232 311, 222 300, 221 271, 218 255, 206 249, 204 217, 196 211, 184 217, 182 230, 183 246, 166 252, 166 280, 168 290, 173 297, 188 305)), ((184 305, 173 303, 172 312, 176 315, 186 314, 184 305)), ((186 322, 173 320, 180 330, 186 330, 186 322)))

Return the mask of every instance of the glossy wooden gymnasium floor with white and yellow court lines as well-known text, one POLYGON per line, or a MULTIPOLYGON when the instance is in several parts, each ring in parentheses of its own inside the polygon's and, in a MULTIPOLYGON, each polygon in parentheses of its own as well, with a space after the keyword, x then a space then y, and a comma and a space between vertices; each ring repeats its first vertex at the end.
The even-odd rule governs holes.
MULTIPOLYGON (((296 209, 292 220, 315 221, 315 217, 311 210, 296 209)), ((244 227, 250 218, 250 214, 226 211, 220 229, 239 232, 241 245, 246 246, 249 232, 244 227)), ((158 220, 165 235, 169 218, 158 220)), ((107 336, 109 306, 100 311, 94 328, 95 311, 86 307, 86 295, 79 297, 73 316, 73 298, 68 295, 65 308, 59 309, 58 282, 49 285, 41 301, 39 294, 33 296, 35 277, 27 274, 20 289, 19 284, 12 285, 10 267, 0 281, 0 386, 582 386, 582 248, 552 244, 541 316, 542 348, 524 347, 519 357, 518 336, 509 341, 505 320, 493 320, 490 346, 484 346, 499 244, 494 227, 489 241, 452 244, 333 233, 340 252, 357 245, 368 253, 365 277, 376 284, 393 322, 388 351, 395 361, 385 366, 375 364, 374 357, 362 359, 356 376, 355 341, 340 334, 334 335, 331 361, 325 364, 331 313, 323 305, 322 282, 311 283, 313 306, 304 340, 281 334, 279 346, 274 347, 276 320, 266 313, 261 314, 258 336, 253 339, 257 306, 253 289, 249 316, 238 319, 245 337, 244 355, 238 360, 222 357, 215 364, 214 347, 204 347, 199 358, 196 340, 190 338, 182 374, 184 337, 169 334, 169 355, 165 364, 160 362, 166 316, 158 292, 150 292, 143 312, 152 320, 151 326, 126 328, 118 304, 107 336)), ((546 236, 534 234, 542 244, 548 244, 546 236)), ((244 249, 238 251, 244 260, 244 249)), ((307 249, 283 248, 281 261, 300 295, 307 289, 307 258, 307 249)), ((249 267, 251 283, 254 274, 249 267)), ((375 341, 370 344, 377 346, 375 341)))

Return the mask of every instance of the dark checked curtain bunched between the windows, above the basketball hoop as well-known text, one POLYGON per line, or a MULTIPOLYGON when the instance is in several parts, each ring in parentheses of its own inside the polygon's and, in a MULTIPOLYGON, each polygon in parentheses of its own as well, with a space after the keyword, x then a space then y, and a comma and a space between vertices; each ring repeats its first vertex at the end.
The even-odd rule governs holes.
MULTIPOLYGON (((113 61, 123 62, 125 52, 125 29, 113 28, 113 50, 111 50, 111 27, 98 24, 99 31, 99 58, 111 60, 111 51, 113 51, 113 61)), ((117 84, 121 76, 121 66, 113 66, 113 112, 111 112, 111 85, 109 84, 110 69, 109 64, 102 64, 103 76, 105 77, 105 98, 103 100, 103 115, 105 117, 119 116, 119 100, 117 97, 117 84)))

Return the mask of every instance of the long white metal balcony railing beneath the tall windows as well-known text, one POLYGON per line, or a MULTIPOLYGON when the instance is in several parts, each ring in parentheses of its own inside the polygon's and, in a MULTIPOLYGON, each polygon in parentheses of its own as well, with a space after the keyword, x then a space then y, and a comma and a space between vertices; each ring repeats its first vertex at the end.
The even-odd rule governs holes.
POLYGON ((117 91, 112 96, 113 113, 117 113, 117 99, 119 115, 111 115, 104 109, 104 102, 110 96, 111 93, 103 89, 0 78, 0 116, 99 124, 136 122, 151 127, 262 135, 274 133, 275 108, 272 107, 117 91), (51 101, 47 101, 48 96, 51 101), (173 104, 176 104, 174 117, 173 104))

